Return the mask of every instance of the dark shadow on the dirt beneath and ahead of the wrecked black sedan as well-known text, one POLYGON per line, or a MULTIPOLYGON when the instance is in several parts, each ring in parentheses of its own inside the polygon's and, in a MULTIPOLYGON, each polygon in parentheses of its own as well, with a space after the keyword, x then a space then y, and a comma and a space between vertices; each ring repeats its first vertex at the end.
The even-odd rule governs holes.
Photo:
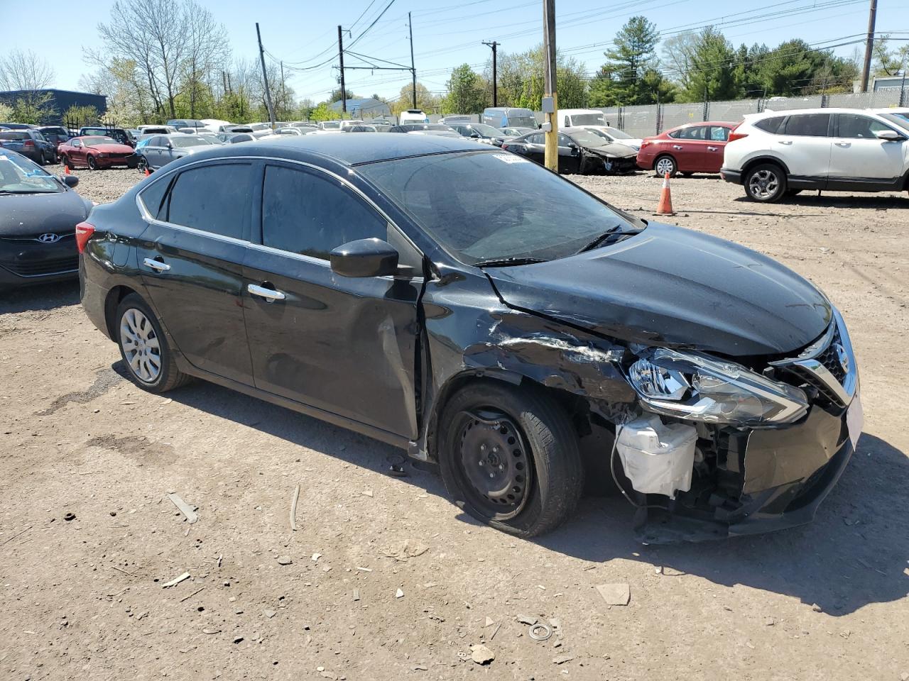
MULTIPOLYGON (((114 370, 123 375, 125 370, 119 364, 114 370)), ((402 453, 205 381, 195 381, 168 396, 377 472, 387 474, 389 463, 402 453), (326 446, 326 442, 331 444, 326 446)), ((405 468, 408 477, 400 480, 402 484, 446 497, 441 479, 410 464, 405 468)), ((573 520, 534 542, 584 560, 639 560, 727 587, 741 584, 797 597, 840 616, 909 593, 909 577, 904 574, 909 558, 905 489, 909 489, 909 459, 904 452, 865 434, 839 484, 818 510, 817 519, 803 528, 700 544, 642 546, 634 540, 634 509, 621 496, 611 495, 584 498, 573 520)), ((457 518, 477 524, 463 513, 457 518)))

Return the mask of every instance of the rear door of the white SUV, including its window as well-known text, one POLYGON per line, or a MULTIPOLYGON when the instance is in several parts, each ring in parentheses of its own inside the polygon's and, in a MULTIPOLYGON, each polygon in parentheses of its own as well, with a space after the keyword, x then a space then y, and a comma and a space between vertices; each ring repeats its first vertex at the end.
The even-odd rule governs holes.
POLYGON ((789 114, 771 143, 789 168, 789 180, 823 189, 830 172, 830 114, 789 114))

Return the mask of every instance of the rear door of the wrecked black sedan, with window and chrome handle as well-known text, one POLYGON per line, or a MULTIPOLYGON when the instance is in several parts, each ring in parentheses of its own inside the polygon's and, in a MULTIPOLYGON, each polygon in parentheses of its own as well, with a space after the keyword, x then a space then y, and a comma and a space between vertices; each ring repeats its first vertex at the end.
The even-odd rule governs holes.
MULTIPOLYGON (((137 247, 145 289, 185 359, 247 385, 243 260, 259 173, 253 162, 232 160, 161 178, 170 189, 137 247)), ((155 207, 145 208, 152 217, 155 207)))

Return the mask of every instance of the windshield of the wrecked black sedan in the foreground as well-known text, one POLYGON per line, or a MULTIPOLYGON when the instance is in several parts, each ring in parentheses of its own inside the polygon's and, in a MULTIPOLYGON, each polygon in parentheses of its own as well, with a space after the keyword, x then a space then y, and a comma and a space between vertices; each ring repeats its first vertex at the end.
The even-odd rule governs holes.
POLYGON ((564 258, 618 227, 604 202, 512 153, 466 152, 358 169, 457 260, 564 258))

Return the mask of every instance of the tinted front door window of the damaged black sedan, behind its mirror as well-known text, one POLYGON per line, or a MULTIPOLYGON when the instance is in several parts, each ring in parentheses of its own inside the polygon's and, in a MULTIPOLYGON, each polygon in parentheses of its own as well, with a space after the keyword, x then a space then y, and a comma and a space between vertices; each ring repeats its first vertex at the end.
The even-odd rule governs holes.
POLYGON ((387 239, 388 223, 343 183, 269 165, 262 194, 262 243, 328 260, 342 243, 387 239))

